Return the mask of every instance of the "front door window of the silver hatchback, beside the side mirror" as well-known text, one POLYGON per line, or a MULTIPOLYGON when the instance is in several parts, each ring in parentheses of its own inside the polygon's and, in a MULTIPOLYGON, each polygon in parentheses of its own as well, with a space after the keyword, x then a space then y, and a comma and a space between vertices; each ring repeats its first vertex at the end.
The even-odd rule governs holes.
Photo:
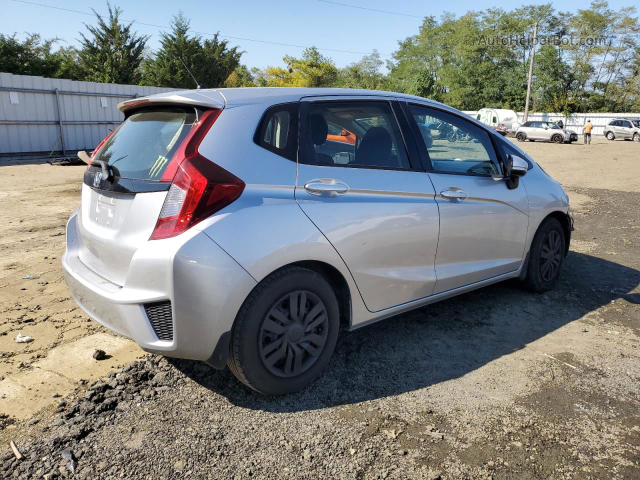
MULTIPOLYGON (((424 118, 439 120, 431 130, 431 145, 424 142, 431 170, 468 175, 499 175, 498 159, 488 132, 450 113, 410 105, 413 120, 420 125, 424 118)), ((424 140, 424 139, 423 139, 424 140)))

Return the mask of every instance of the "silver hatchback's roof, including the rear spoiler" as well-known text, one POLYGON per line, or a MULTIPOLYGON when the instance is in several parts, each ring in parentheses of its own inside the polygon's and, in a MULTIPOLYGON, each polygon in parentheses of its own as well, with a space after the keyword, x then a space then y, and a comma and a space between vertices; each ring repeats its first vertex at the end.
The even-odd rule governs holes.
POLYGON ((148 97, 126 100, 118 104, 121 111, 145 104, 147 102, 170 102, 192 104, 209 108, 225 108, 246 104, 264 104, 271 106, 278 103, 297 102, 305 97, 340 97, 366 95, 369 97, 398 97, 406 100, 428 102, 447 110, 455 109, 407 93, 385 92, 382 90, 360 90, 356 88, 303 88, 303 87, 246 87, 246 88, 204 88, 201 90, 175 90, 157 93, 148 97))

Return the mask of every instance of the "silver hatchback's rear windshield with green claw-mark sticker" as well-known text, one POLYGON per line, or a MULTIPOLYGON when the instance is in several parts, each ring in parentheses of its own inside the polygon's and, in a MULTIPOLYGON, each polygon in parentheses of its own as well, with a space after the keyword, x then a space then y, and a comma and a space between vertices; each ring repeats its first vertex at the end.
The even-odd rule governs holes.
POLYGON ((115 177, 160 180, 195 122, 193 108, 137 111, 113 132, 95 160, 106 161, 115 177))

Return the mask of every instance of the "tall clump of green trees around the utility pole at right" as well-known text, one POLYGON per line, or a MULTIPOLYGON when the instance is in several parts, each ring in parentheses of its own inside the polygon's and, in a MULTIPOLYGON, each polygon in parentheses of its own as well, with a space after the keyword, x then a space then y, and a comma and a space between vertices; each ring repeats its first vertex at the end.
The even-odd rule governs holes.
POLYGON ((537 23, 532 110, 631 111, 640 95, 635 12, 598 1, 575 14, 541 4, 426 17, 417 35, 399 42, 386 84, 460 109, 522 111, 537 23))

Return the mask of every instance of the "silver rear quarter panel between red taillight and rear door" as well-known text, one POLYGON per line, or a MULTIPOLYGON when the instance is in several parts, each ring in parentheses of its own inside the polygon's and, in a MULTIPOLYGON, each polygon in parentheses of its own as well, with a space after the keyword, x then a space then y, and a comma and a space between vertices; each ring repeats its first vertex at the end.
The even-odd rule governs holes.
POLYGON ((259 147, 253 134, 271 104, 225 108, 199 152, 246 184, 236 202, 202 221, 202 230, 257 281, 287 264, 335 267, 351 294, 353 323, 369 319, 346 264, 294 198, 297 164, 259 147))

